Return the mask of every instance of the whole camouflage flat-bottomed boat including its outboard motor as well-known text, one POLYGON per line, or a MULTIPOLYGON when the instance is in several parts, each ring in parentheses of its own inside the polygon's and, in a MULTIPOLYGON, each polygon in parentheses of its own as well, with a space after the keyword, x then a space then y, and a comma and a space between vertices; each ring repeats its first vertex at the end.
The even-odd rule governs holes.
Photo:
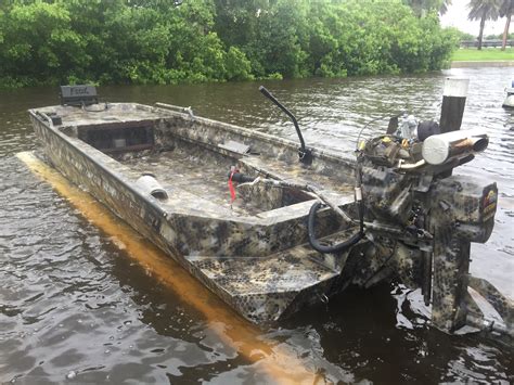
POLYGON ((29 114, 56 169, 252 322, 400 279, 422 288, 436 328, 512 336, 510 300, 468 275, 471 242, 492 231, 496 183, 451 176, 487 136, 397 117, 356 161, 306 146, 261 92, 292 117, 299 146, 163 103, 99 103, 86 86, 29 114), (485 320, 468 286, 503 323, 485 320))

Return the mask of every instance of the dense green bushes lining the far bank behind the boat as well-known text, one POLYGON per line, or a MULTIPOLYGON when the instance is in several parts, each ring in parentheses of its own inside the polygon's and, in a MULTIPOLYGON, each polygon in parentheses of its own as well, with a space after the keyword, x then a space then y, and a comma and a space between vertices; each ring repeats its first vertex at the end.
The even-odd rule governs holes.
POLYGON ((3 0, 0 87, 438 69, 458 41, 447 3, 419 17, 402 0, 3 0))

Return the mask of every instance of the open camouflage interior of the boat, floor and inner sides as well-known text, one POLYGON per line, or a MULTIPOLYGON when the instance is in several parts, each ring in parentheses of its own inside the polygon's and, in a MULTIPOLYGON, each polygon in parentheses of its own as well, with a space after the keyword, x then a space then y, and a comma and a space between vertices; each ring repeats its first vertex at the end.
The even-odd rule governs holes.
MULTIPOLYGON (((49 108, 42 113, 57 121, 55 129, 136 174, 153 177, 159 191, 196 195, 235 215, 255 216, 314 197, 296 188, 243 183, 236 189, 237 198, 231 202, 231 170, 316 185, 336 200, 352 192, 350 162, 316 151, 312 165, 305 166, 298 161, 295 142, 195 117, 190 110, 136 103, 49 108)), ((167 198, 167 193, 153 195, 160 201, 167 198)))

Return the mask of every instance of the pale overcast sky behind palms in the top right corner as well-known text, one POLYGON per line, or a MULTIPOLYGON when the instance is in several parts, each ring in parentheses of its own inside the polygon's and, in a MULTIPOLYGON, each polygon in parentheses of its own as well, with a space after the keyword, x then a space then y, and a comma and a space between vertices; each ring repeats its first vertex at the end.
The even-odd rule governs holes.
MULTIPOLYGON (((457 27, 464 33, 478 36, 480 30, 480 21, 471 22, 467 20, 470 10, 467 4, 470 0, 453 0, 452 4, 448 9, 448 12, 441 16, 441 24, 445 27, 457 27)), ((484 35, 498 35, 503 34, 506 18, 502 17, 496 22, 486 21, 486 27, 484 28, 484 35)), ((514 31, 514 23, 511 22, 510 31, 514 31)))

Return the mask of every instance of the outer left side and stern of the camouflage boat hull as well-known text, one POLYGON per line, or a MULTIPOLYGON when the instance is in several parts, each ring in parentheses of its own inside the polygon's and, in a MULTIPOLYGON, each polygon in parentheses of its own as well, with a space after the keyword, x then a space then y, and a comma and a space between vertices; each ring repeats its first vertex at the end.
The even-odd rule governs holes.
MULTIPOLYGON (((57 170, 156 244, 244 318, 258 323, 273 322, 346 286, 340 282, 343 265, 327 264, 325 256, 305 245, 305 221, 311 202, 281 208, 275 216, 264 219, 213 218, 202 209, 170 211, 138 190, 137 176, 130 178, 133 170, 129 167, 61 132, 36 113, 30 117, 47 158, 57 170)), ((176 206, 180 205, 178 197, 176 206)), ((337 223, 333 218, 325 223, 324 231, 337 230, 330 224, 337 223)))

